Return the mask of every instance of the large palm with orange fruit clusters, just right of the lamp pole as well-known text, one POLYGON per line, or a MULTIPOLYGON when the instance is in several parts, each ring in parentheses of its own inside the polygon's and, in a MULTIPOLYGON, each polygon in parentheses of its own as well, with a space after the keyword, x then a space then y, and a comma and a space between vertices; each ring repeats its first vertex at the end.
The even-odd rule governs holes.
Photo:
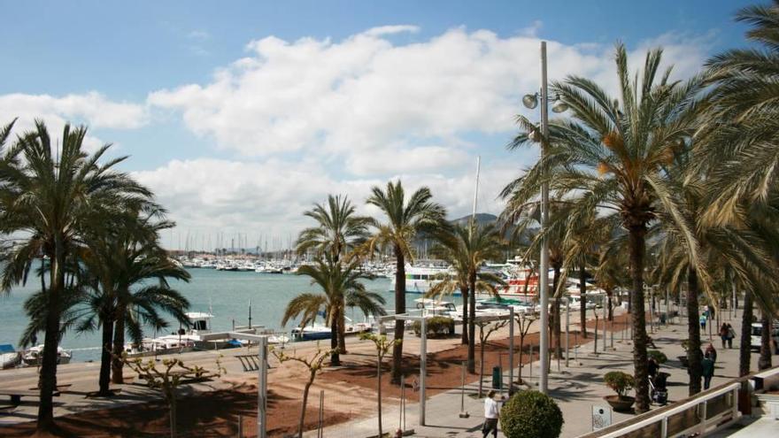
POLYGON ((656 221, 675 222, 694 265, 698 265, 695 236, 681 213, 683 206, 672 196, 664 165, 693 134, 697 96, 703 85, 698 77, 670 81, 670 68, 659 76, 661 58, 662 50, 647 53, 642 72, 633 79, 627 50, 618 44, 615 61, 620 98, 609 96, 594 81, 569 76, 553 88, 568 104, 572 118, 552 121, 549 138, 543 138, 535 125, 520 116, 523 132, 510 145, 517 148, 531 143, 532 138, 541 138, 547 150, 521 178, 518 202, 535 199, 542 183, 548 182, 558 196, 570 197, 567 202, 572 204, 573 214, 598 209, 613 215, 628 233, 639 412, 649 409, 644 318, 648 227, 656 221))

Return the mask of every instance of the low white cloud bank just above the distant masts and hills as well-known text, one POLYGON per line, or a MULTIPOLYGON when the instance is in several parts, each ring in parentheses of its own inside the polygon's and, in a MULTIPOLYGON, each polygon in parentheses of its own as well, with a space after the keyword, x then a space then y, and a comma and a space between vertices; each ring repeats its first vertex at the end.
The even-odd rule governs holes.
MULTIPOLYGON (((303 211, 323 202, 328 194, 349 196, 359 214, 378 212, 365 204, 371 187, 384 187, 400 179, 407 193, 422 186, 435 200, 450 209, 452 218, 471 210, 475 168, 456 177, 437 173, 398 173, 389 178, 337 179, 313 161, 295 163, 268 160, 264 163, 197 158, 174 160, 151 171, 134 173, 151 188, 158 201, 171 211, 180 232, 287 236, 312 225, 303 211)), ((512 163, 487 163, 482 167, 480 211, 498 212, 502 203, 496 195, 516 177, 512 163)), ((169 236, 163 236, 169 239, 169 236)), ((169 242, 169 241, 168 241, 169 242)))

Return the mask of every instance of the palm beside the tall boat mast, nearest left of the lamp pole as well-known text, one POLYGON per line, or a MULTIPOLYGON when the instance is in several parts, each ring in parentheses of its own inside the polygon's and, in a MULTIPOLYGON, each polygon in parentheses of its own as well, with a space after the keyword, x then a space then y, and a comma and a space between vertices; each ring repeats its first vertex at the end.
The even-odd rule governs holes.
POLYGON ((463 294, 463 332, 468 335, 468 372, 475 373, 476 293, 497 296, 496 285, 505 284, 496 274, 481 272, 481 266, 484 262, 503 256, 504 242, 493 224, 475 226, 472 222, 467 227, 455 225, 451 230, 436 235, 441 246, 434 249, 434 253, 451 264, 455 276, 436 284, 428 296, 451 293, 455 288, 459 288, 463 294))

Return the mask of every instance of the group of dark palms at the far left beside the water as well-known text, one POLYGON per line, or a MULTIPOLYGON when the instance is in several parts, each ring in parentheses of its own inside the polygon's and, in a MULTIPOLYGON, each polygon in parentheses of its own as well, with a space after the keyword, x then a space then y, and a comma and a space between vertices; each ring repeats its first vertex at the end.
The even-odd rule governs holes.
MULTIPOLYGON (((14 120, 15 122, 15 120, 14 120)), ((144 327, 166 327, 163 313, 187 322, 187 300, 168 280, 189 274, 167 257, 159 232, 173 227, 149 189, 116 170, 126 158, 89 154, 85 127, 66 125, 55 141, 42 121, 10 141, 0 130, 0 288, 40 281, 24 309, 20 342, 43 334, 37 428, 55 426, 58 344, 68 330, 102 332, 99 396, 122 381, 125 337, 140 342, 144 327)))

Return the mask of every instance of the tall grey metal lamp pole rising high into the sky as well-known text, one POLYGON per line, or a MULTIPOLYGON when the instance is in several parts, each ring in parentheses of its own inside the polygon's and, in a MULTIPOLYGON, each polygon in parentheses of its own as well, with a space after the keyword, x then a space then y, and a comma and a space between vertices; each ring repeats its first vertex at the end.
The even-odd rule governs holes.
MULTIPOLYGON (((541 42, 541 158, 546 157, 546 141, 549 136, 549 90, 546 84, 546 42, 541 42)), ((546 165, 541 169, 543 173, 541 185, 541 229, 544 231, 549 224, 549 183, 546 181, 546 165)), ((538 390, 546 394, 547 378, 549 373, 549 241, 544 234, 541 241, 541 263, 539 274, 539 293, 541 298, 541 339, 538 348, 541 354, 541 370, 538 379, 538 390)))

